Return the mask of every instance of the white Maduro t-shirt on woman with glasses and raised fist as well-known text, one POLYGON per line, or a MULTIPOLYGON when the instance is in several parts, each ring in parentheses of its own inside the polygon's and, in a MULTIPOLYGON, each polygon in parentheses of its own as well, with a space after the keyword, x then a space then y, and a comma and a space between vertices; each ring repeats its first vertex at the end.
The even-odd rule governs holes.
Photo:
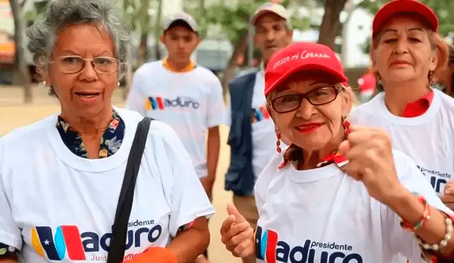
MULTIPOLYGON (((282 155, 275 155, 255 184, 257 262, 421 262, 414 235, 400 227, 396 213, 367 194, 361 181, 336 164, 278 169, 282 155)), ((409 191, 453 213, 408 156, 398 151, 393 155, 398 177, 409 191)))

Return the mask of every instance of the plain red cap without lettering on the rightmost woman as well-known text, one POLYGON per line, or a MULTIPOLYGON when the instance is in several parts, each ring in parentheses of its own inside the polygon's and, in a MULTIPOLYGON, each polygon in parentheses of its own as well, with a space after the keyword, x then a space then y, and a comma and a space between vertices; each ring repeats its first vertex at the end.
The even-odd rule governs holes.
POLYGON ((414 13, 424 18, 426 26, 438 31, 438 18, 431 8, 416 0, 393 0, 384 4, 381 9, 375 13, 374 21, 372 22, 372 38, 380 33, 384 23, 389 21, 389 18, 397 13, 414 13))

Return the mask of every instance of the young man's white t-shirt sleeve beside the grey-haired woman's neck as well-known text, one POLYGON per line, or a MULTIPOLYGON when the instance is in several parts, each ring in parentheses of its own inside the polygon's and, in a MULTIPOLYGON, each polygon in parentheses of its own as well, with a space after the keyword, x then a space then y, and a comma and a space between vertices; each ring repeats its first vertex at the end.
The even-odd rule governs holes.
POLYGON ((137 111, 140 115, 145 116, 147 114, 147 98, 142 91, 144 88, 143 85, 145 85, 143 76, 137 74, 136 72, 133 75, 133 83, 131 84, 131 90, 129 91, 128 98, 126 99, 125 108, 137 111))

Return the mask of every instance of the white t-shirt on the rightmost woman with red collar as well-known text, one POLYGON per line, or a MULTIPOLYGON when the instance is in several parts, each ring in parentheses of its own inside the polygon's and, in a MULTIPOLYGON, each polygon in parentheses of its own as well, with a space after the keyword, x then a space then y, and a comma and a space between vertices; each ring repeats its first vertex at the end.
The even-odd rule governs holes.
POLYGON ((441 195, 454 177, 454 99, 433 89, 426 113, 415 118, 393 115, 384 105, 384 93, 355 108, 350 121, 387 130, 393 147, 405 152, 418 165, 441 195))

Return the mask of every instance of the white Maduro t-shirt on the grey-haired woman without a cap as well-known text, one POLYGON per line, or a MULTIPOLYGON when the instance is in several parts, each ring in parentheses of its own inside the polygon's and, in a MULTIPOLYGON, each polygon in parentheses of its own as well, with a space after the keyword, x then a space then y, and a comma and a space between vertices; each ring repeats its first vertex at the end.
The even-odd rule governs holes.
MULTIPOLYGON (((74 155, 50 116, 0 139, 0 242, 21 262, 106 262, 118 195, 136 126, 143 118, 115 108, 126 125, 111 157, 74 155)), ((211 216, 211 206, 175 132, 152 121, 135 185, 126 259, 165 247, 181 225, 211 216)))

